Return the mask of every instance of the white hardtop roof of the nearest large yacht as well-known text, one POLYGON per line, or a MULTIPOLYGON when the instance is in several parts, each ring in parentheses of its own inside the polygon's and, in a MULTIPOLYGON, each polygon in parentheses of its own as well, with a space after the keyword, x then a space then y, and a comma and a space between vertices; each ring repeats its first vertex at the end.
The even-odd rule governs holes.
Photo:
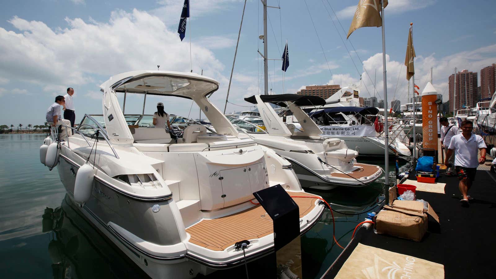
POLYGON ((219 82, 210 77, 192 72, 165 70, 136 70, 112 76, 100 85, 116 92, 150 95, 169 95, 191 99, 204 96, 219 88, 219 82))

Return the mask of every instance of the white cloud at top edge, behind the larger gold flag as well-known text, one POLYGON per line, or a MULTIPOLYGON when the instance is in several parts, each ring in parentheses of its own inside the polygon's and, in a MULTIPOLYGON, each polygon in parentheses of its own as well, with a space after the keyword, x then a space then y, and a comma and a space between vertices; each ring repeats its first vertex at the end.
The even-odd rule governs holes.
MULTIPOLYGON (((423 9, 433 5, 435 0, 394 0, 389 1, 387 7, 384 9, 387 14, 398 14, 409 10, 423 9)), ((337 12, 339 19, 351 19, 355 14, 357 5, 347 6, 346 8, 337 12)))

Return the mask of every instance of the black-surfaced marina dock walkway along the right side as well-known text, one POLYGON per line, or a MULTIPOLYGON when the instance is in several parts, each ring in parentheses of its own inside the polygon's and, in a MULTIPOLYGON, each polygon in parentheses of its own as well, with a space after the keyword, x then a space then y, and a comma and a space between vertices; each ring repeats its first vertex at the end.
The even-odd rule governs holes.
MULTIPOLYGON (((479 166, 470 190, 474 199, 466 208, 459 202, 461 194, 458 190, 458 178, 443 176, 444 172, 445 170, 441 171, 438 178, 438 182, 446 183, 444 194, 419 190, 416 192, 416 198, 429 202, 439 217, 437 223, 429 216, 428 232, 420 242, 375 234, 372 226, 362 226, 357 229, 355 237, 322 278, 344 278, 340 271, 359 245, 398 253, 406 256, 406 259, 413 260, 411 257, 415 257, 440 264, 444 269, 444 277, 440 278, 492 278, 494 257, 483 255, 491 255, 496 249, 496 241, 492 237, 496 223, 491 221, 491 214, 496 210, 496 174, 489 171, 489 166, 479 166)), ((415 180, 413 173, 409 179, 415 180)), ((370 254, 370 257, 373 256, 370 254)), ((410 278, 409 275, 412 275, 408 272, 414 269, 413 263, 410 269, 407 266, 403 267, 403 262, 405 260, 402 261, 400 257, 395 278, 410 278), (407 273, 403 274, 405 271, 407 273)), ((368 278, 364 277, 367 268, 370 267, 356 269, 355 278, 368 278)), ((431 278, 438 276, 433 275, 431 278)))

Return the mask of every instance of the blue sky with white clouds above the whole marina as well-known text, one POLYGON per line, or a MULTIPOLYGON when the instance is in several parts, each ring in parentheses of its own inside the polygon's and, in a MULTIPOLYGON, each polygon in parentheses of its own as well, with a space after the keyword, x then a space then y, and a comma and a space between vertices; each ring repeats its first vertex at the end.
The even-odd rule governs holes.
MULTIPOLYGON (((244 0, 190 0, 186 38, 177 34, 181 0, 3 0, 0 10, 0 125, 41 125, 57 95, 73 87, 76 123, 102 114, 99 85, 131 70, 186 71, 220 82, 211 101, 224 108, 244 0), (191 52, 190 52, 191 45, 191 52)), ((268 0, 269 91, 306 85, 361 85, 360 96, 383 98, 381 28, 349 29, 358 0, 268 0), (335 25, 334 25, 335 24, 335 25), (343 43, 344 42, 344 43, 343 43), (351 58, 350 58, 351 57, 351 58), (360 81, 362 75, 362 81, 360 81), (283 81, 284 80, 284 81, 283 81), (283 85, 284 84, 284 85, 283 85), (374 90, 374 84, 375 89, 374 90)), ((262 4, 247 0, 226 113, 250 110, 243 98, 263 94, 262 4)), ((410 22, 415 79, 430 80, 448 99, 448 76, 496 63, 494 0, 390 0, 385 9, 387 99, 407 100, 405 53, 410 22)), ((479 81, 480 83, 480 81, 479 81)), ((122 97, 120 100, 122 102, 122 97)), ((198 107, 175 97, 147 98, 145 114, 198 118, 198 107)), ((141 113, 143 96, 128 96, 126 113, 141 113)))

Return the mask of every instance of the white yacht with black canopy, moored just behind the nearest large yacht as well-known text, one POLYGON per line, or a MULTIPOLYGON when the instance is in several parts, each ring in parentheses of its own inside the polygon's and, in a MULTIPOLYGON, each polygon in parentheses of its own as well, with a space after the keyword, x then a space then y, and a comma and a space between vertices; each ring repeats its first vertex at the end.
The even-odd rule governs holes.
MULTIPOLYGON (((266 131, 249 135, 264 146, 290 161, 303 187, 330 190, 337 186, 362 187, 377 180, 382 169, 376 165, 356 162, 358 152, 346 146, 344 140, 322 137, 322 132, 299 107, 314 105, 322 98, 296 94, 254 95, 245 98, 256 104, 266 131), (286 126, 270 105, 288 106, 302 123, 304 131, 295 132, 286 126), (286 105, 288 103, 289 105, 286 105)), ((318 105, 318 104, 317 104, 318 105)))

